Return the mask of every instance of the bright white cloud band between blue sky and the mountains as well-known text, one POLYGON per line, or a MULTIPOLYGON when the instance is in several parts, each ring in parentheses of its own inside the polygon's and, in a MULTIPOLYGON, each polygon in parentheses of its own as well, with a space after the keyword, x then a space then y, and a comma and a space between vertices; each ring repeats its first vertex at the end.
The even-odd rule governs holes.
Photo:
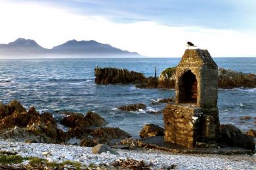
MULTIPOLYGON (((155 22, 117 24, 102 16, 81 16, 35 3, 1 3, 1 43, 18 37, 52 48, 70 39, 95 40, 145 56, 182 56, 186 40, 207 48, 212 56, 253 56, 255 33, 170 27, 155 22)), ((255 55, 256 56, 256 55, 255 55)))

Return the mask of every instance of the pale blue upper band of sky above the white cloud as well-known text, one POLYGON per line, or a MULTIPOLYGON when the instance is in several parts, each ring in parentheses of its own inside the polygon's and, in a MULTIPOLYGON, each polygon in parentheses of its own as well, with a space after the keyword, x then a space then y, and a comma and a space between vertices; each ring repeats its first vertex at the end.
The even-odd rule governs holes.
MULTIPOLYGON (((38 2, 38 1, 34 1, 38 2)), ((238 0, 76 0, 41 1, 113 22, 154 21, 173 26, 255 29, 256 1, 238 0)))

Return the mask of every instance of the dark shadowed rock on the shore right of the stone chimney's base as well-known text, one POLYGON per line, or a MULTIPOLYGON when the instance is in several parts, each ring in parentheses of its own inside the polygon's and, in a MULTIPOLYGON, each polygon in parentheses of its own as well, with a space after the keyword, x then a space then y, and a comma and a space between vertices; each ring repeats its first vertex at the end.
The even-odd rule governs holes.
POLYGON ((255 150, 255 140, 249 135, 245 135, 235 126, 230 124, 221 125, 222 141, 229 146, 238 146, 241 148, 255 150))

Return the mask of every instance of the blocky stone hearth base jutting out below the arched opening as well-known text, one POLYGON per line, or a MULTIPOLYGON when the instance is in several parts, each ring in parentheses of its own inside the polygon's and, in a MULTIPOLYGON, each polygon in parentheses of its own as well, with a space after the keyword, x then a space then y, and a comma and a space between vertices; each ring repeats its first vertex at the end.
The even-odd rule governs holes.
POLYGON ((163 110, 165 141, 193 148, 202 138, 202 109, 186 104, 169 104, 163 110))

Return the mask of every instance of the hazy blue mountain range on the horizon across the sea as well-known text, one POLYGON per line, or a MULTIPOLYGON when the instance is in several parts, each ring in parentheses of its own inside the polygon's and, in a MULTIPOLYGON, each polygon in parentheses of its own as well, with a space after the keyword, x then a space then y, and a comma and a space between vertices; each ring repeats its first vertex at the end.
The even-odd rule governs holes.
POLYGON ((54 46, 52 49, 43 48, 37 42, 30 39, 16 39, 9 44, 0 44, 1 55, 43 55, 43 54, 62 54, 62 55, 88 55, 88 56, 111 56, 111 55, 133 55, 138 56, 137 52, 128 52, 110 46, 109 44, 102 44, 96 41, 67 41, 64 44, 54 46))

